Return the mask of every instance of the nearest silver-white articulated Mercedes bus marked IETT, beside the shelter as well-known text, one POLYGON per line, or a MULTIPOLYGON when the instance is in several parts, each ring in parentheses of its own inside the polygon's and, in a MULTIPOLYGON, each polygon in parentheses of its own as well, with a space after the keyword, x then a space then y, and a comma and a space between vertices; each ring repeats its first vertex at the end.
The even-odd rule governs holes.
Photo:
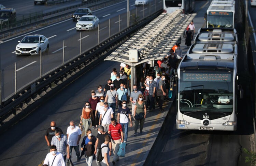
POLYGON ((238 85, 236 31, 226 31, 228 41, 225 37, 213 41, 212 36, 225 36, 225 31, 207 30, 199 30, 177 69, 176 128, 235 131, 237 99, 243 97, 238 85))

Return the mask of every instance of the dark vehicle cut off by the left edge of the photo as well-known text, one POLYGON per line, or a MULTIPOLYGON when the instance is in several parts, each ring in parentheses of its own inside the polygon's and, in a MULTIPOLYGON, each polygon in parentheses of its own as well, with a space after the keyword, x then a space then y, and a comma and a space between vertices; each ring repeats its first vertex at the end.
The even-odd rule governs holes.
POLYGON ((3 9, 0 10, 0 24, 10 24, 16 21, 15 9, 3 9))

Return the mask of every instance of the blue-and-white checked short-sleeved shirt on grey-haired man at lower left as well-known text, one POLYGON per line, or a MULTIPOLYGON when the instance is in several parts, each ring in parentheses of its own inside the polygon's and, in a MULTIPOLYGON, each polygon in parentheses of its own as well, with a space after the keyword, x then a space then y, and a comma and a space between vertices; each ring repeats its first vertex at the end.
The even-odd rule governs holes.
POLYGON ((61 134, 60 140, 58 140, 58 138, 54 136, 52 139, 51 145, 55 145, 57 147, 57 152, 60 152, 63 156, 65 156, 67 151, 67 145, 68 145, 67 136, 61 134))

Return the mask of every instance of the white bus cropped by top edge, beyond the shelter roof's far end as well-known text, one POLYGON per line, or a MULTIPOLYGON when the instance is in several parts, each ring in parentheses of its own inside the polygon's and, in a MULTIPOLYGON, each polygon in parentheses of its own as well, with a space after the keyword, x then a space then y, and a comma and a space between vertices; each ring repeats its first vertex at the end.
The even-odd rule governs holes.
POLYGON ((182 9, 184 13, 192 13, 195 9, 195 0, 163 0, 163 12, 172 13, 182 9))

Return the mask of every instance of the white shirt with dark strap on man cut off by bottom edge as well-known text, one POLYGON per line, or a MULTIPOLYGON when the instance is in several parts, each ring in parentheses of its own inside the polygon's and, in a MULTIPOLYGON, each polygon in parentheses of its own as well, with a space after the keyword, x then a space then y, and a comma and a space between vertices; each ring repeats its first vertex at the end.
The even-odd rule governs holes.
POLYGON ((56 155, 53 155, 52 152, 48 153, 44 159, 44 164, 49 166, 51 166, 52 164, 53 166, 66 166, 63 156, 59 152, 57 152, 56 155))

